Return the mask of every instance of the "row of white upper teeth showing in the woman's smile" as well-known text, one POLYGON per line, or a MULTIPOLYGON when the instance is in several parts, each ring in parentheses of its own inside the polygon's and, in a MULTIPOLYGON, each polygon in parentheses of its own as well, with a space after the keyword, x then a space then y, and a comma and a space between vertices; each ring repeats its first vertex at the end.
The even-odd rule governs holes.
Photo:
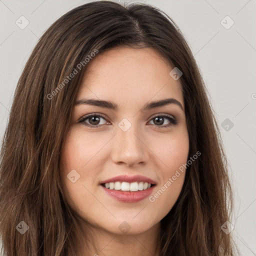
POLYGON ((114 189, 114 190, 122 190, 122 191, 138 191, 138 190, 145 190, 149 187, 151 187, 150 183, 147 182, 109 182, 105 183, 104 186, 108 189, 114 189))

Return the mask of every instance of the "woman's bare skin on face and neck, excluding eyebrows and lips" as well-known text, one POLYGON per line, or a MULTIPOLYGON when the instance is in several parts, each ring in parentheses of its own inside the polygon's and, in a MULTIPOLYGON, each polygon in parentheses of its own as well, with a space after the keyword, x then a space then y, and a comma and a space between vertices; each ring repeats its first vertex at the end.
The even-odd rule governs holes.
POLYGON ((169 75, 172 69, 149 47, 119 46, 98 54, 88 63, 76 101, 109 100, 119 109, 75 105, 61 152, 65 198, 79 215, 80 228, 84 233, 85 229, 86 233, 91 232, 95 245, 82 246, 84 241, 79 236, 81 255, 159 255, 156 245, 160 220, 177 200, 185 171, 153 202, 148 197, 133 203, 120 202, 107 195, 99 183, 119 174, 140 174, 156 181, 153 195, 186 163, 189 142, 181 107, 172 103, 141 111, 146 103, 165 98, 175 98, 184 109, 180 79, 169 75), (91 118, 78 122, 90 113, 104 115, 98 116, 98 127, 83 124, 93 126, 95 120, 91 118), (153 117, 161 114, 174 117, 177 124, 165 117, 158 124, 153 117), (123 118, 131 124, 125 132, 118 126, 123 118), (162 127, 166 124, 171 125, 162 127), (72 169, 80 175, 74 183, 67 178, 72 169), (130 226, 127 233, 118 228, 123 221, 130 226))

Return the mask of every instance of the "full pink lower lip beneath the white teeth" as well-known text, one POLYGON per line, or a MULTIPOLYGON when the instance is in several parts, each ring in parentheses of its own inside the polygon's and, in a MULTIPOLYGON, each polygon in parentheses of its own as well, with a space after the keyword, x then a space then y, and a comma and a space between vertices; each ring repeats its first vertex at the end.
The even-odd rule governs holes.
POLYGON ((143 200, 144 198, 148 197, 152 193, 152 190, 154 189, 154 186, 151 186, 145 190, 138 190, 138 191, 131 192, 131 191, 108 189, 102 185, 100 186, 103 188, 105 193, 117 199, 118 201, 122 201, 122 202, 138 202, 140 200, 143 200))

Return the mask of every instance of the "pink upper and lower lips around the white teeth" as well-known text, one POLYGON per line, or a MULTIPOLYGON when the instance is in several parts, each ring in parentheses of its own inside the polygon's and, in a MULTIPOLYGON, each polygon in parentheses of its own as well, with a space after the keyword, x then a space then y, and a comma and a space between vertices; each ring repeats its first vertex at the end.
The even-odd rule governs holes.
POLYGON ((147 178, 145 176, 141 176, 141 175, 135 175, 135 176, 118 175, 113 178, 109 178, 109 179, 106 179, 106 180, 103 180, 102 182, 100 182, 100 184, 101 184, 100 187, 103 189, 103 191, 106 194, 108 194, 109 196, 111 196, 121 202, 140 201, 152 193, 154 186, 151 186, 145 190, 122 191, 122 190, 108 189, 102 185, 104 183, 115 182, 115 181, 120 181, 120 182, 124 181, 124 182, 129 182, 129 183, 135 182, 135 181, 137 181, 137 182, 142 181, 142 182, 150 183, 151 185, 156 184, 156 182, 154 180, 147 178))

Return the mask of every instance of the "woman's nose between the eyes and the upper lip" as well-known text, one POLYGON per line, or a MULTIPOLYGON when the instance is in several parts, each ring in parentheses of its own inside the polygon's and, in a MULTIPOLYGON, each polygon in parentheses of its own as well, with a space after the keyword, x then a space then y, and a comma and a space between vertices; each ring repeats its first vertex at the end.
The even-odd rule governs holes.
POLYGON ((118 127, 112 142, 112 161, 129 167, 138 163, 145 164, 149 159, 149 149, 143 140, 145 139, 135 129, 135 125, 131 125, 126 131, 118 127))

